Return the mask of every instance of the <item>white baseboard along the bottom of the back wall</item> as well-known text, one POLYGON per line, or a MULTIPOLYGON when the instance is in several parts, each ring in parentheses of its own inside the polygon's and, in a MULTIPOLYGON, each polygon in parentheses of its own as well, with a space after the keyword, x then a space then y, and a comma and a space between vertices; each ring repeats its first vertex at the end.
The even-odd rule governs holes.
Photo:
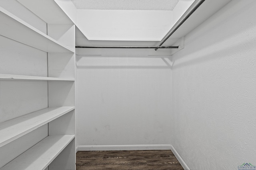
POLYGON ((96 150, 170 150, 171 145, 82 145, 79 151, 96 150))

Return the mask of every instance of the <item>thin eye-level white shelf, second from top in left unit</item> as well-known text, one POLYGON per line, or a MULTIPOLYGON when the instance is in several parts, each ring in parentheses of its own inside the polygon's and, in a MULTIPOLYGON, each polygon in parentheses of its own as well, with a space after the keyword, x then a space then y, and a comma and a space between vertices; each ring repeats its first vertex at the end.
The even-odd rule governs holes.
POLYGON ((22 81, 75 81, 74 78, 55 78, 40 76, 23 76, 14 74, 0 74, 0 80, 22 80, 22 81))

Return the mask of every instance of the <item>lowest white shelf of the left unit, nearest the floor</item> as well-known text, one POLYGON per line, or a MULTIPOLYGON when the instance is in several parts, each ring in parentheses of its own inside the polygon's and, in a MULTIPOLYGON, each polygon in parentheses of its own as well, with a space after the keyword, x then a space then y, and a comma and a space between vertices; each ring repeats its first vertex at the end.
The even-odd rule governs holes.
POLYGON ((74 137, 75 135, 48 136, 0 170, 44 170, 74 137))

